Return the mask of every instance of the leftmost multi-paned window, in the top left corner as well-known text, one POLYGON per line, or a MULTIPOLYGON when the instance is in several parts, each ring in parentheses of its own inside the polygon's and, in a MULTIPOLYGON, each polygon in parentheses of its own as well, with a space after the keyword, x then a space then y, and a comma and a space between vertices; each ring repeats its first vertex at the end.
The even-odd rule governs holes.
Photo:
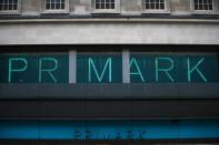
POLYGON ((0 0, 0 11, 18 11, 18 0, 0 0))

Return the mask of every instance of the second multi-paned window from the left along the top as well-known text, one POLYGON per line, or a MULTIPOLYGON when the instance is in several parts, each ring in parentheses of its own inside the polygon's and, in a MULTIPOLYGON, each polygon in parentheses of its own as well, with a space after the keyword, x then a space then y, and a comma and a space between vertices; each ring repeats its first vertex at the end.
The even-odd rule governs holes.
POLYGON ((64 10, 66 0, 44 0, 46 10, 64 10))

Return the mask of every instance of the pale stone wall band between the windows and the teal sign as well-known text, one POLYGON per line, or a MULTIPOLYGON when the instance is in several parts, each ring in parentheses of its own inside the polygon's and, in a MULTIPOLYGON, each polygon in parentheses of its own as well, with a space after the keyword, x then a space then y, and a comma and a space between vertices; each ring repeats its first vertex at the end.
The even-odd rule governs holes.
POLYGON ((219 44, 218 20, 36 19, 0 21, 0 44, 219 44))

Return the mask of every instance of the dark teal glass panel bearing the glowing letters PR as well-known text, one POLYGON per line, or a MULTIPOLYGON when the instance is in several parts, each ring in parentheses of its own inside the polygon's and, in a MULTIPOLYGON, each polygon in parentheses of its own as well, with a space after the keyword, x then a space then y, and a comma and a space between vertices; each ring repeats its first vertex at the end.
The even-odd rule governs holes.
POLYGON ((68 83, 68 53, 0 54, 0 83, 68 83))

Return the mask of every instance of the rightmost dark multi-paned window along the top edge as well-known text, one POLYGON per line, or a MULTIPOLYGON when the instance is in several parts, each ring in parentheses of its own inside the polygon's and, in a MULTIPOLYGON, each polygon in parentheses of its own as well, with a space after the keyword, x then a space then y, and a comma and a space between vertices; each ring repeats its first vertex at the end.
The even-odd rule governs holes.
POLYGON ((213 10, 213 0, 193 0, 195 10, 213 10))

